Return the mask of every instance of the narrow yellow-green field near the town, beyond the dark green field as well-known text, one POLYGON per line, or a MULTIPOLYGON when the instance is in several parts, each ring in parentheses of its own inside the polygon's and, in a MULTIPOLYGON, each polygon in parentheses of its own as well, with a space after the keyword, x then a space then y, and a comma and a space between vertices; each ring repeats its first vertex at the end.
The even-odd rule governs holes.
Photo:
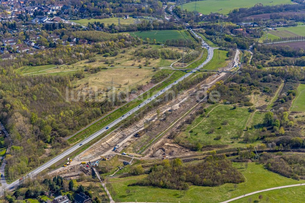
MULTIPOLYGON (((91 18, 91 19, 71 20, 71 21, 84 25, 84 26, 88 26, 88 23, 93 23, 94 21, 104 23, 105 26, 107 26, 107 24, 111 25, 112 23, 115 25, 118 25, 118 23, 119 23, 118 18, 104 18, 104 19, 91 18)), ((134 18, 127 18, 127 19, 120 18, 120 23, 125 24, 125 25, 129 25, 129 24, 135 23, 137 21, 139 21, 139 20, 134 19, 134 18)))

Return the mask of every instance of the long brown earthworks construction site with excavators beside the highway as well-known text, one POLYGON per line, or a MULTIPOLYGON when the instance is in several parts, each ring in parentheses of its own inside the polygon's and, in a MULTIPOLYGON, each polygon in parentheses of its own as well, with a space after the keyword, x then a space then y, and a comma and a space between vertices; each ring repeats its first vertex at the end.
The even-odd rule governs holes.
MULTIPOLYGON (((239 51, 222 70, 236 68, 239 51)), ((192 77, 195 77, 195 73, 192 77)), ((214 72, 200 84, 180 92, 175 99, 163 102, 145 116, 129 126, 119 126, 106 138, 102 138, 88 149, 50 172, 66 179, 78 179, 81 173, 101 180, 102 176, 114 177, 130 172, 135 162, 154 163, 162 159, 181 158, 185 161, 202 159, 204 155, 176 143, 175 134, 179 126, 206 100, 206 91, 220 80, 227 80, 230 73, 214 72), (200 99, 198 99, 200 98, 200 99)), ((136 116, 136 115, 135 115, 136 116)), ((147 170, 148 168, 144 168, 147 170)))

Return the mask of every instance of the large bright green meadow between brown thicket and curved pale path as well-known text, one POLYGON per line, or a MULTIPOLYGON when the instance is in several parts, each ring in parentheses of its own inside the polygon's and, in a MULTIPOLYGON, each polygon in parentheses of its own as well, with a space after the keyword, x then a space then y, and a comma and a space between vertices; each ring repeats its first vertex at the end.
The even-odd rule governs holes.
MULTIPOLYGON (((160 201, 181 203, 199 203, 203 202, 204 199, 205 203, 216 203, 257 190, 304 182, 286 178, 284 176, 278 175, 277 173, 272 173, 267 169, 264 169, 263 165, 256 163, 249 163, 249 166, 246 170, 244 169, 244 166, 240 168, 239 163, 234 163, 234 166, 237 167, 246 178, 246 181, 244 183, 238 184, 236 189, 234 189, 234 184, 229 183, 219 187, 190 186, 190 189, 184 196, 183 192, 180 194, 180 191, 177 190, 168 190, 158 187, 127 186, 128 184, 135 183, 137 180, 146 176, 142 175, 111 179, 112 186, 117 193, 117 196, 114 199, 120 202, 160 201), (125 192, 127 189, 132 191, 129 195, 127 195, 125 192)), ((242 202, 246 201, 244 200, 242 202)))

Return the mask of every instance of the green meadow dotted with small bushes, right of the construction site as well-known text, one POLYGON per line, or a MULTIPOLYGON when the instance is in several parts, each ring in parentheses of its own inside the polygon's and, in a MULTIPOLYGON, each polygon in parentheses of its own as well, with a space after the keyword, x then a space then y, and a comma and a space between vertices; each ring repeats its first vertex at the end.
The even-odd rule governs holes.
POLYGON ((231 145, 232 141, 236 141, 238 132, 246 127, 249 116, 250 113, 246 108, 232 109, 230 105, 218 105, 208 117, 197 117, 191 125, 188 125, 184 134, 189 141, 231 145), (224 121, 228 124, 222 124, 224 121), (213 133, 209 133, 211 128, 214 128, 213 133), (221 139, 214 140, 217 136, 221 136, 221 139))

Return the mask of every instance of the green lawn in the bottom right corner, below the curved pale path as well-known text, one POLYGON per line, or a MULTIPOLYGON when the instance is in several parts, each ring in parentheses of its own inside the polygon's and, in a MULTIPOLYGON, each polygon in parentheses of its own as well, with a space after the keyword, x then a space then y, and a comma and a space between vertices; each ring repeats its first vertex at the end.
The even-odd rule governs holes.
POLYGON ((244 203, 249 202, 249 198, 252 201, 258 200, 260 203, 265 203, 267 199, 269 199, 269 203, 291 203, 291 202, 303 202, 305 194, 305 186, 298 187, 288 187, 282 188, 278 190, 271 190, 266 192, 260 192, 257 194, 253 194, 239 200, 232 201, 233 203, 244 203), (259 195, 263 196, 263 199, 260 200, 258 198, 259 195))

